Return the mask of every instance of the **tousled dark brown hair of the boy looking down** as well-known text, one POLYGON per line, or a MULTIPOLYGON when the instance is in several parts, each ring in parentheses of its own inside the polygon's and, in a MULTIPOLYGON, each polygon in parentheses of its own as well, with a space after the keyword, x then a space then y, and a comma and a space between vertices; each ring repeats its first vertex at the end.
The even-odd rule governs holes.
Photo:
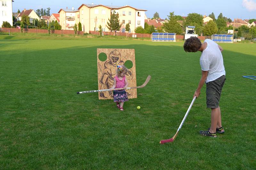
POLYGON ((201 41, 197 37, 190 37, 184 43, 184 51, 186 52, 196 52, 202 46, 201 41))

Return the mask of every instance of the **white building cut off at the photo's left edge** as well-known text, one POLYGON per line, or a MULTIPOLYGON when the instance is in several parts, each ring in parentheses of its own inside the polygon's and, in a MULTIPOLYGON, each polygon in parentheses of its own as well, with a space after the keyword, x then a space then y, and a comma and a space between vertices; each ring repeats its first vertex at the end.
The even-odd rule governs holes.
POLYGON ((12 2, 13 0, 0 0, 0 27, 7 21, 12 26, 12 2))

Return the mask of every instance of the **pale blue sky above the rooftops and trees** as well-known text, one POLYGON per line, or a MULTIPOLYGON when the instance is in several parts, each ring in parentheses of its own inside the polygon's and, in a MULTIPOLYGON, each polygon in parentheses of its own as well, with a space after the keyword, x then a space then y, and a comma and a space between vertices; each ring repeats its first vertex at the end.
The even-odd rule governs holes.
POLYGON ((124 6, 130 5, 137 9, 147 10, 145 12, 148 18, 152 18, 155 12, 159 13, 160 18, 168 18, 170 12, 174 12, 174 15, 187 16, 189 13, 198 13, 208 16, 212 12, 215 18, 222 13, 223 16, 234 20, 234 18, 252 19, 256 18, 256 0, 14 0, 12 3, 13 12, 17 12, 18 9, 22 11, 25 9, 46 9, 51 8, 50 13, 57 13, 61 8, 77 9, 82 4, 102 4, 102 5, 115 5, 124 6), (157 2, 157 3, 156 3, 157 2))

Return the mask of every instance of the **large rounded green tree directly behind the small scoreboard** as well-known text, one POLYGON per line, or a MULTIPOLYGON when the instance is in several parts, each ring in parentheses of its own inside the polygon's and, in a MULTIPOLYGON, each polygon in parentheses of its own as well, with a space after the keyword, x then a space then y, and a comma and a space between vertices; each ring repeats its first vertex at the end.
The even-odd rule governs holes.
POLYGON ((184 26, 195 26, 196 34, 201 34, 203 29, 203 16, 197 13, 189 13, 184 26))

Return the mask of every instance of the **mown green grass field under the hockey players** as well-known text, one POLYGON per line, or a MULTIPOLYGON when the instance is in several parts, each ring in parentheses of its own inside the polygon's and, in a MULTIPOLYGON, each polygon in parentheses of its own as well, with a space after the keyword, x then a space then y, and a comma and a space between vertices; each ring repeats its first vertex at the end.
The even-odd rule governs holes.
POLYGON ((0 169, 255 169, 256 44, 220 44, 225 134, 210 126, 205 85, 173 143, 201 78, 183 42, 0 35, 0 169), (134 48, 138 98, 98 100, 97 48, 134 48), (137 110, 136 107, 141 109, 137 110))

